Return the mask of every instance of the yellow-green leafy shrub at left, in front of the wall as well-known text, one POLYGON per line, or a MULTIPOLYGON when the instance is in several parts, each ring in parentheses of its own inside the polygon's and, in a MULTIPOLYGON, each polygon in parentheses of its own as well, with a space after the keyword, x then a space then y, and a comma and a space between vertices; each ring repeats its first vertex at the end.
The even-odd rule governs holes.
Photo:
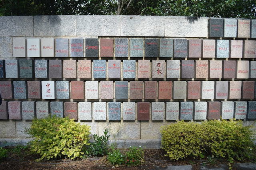
POLYGON ((26 133, 34 138, 29 142, 30 150, 41 155, 36 161, 61 156, 74 159, 84 154, 81 152, 84 145, 89 145, 90 127, 74 119, 53 116, 34 119, 26 133))

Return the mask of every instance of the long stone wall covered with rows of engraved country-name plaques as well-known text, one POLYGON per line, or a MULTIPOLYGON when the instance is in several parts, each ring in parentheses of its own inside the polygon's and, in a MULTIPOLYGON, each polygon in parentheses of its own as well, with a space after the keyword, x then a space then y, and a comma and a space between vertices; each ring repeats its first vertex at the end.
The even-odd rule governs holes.
POLYGON ((256 20, 178 16, 0 17, 0 142, 33 118, 108 128, 160 147, 176 120, 256 119, 256 20))

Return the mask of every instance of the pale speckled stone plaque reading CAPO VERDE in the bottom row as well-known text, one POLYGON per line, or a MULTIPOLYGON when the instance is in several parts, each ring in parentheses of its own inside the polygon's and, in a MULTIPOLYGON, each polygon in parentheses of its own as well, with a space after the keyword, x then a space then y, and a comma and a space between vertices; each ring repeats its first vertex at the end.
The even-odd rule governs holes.
POLYGON ((123 120, 134 121, 136 116, 135 102, 123 102, 123 120))

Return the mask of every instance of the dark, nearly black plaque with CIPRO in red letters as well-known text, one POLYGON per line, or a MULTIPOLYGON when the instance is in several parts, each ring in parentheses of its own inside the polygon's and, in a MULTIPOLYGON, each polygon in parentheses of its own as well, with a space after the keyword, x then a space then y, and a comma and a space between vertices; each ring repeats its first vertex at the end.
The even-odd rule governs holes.
POLYGON ((85 57, 98 56, 98 38, 85 38, 85 57))

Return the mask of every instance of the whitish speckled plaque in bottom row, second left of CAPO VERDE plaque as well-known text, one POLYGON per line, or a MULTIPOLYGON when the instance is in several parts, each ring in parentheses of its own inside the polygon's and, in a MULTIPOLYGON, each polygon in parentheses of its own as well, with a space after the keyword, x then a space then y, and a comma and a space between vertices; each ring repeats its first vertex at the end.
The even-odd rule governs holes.
POLYGON ((94 102, 92 112, 94 120, 107 120, 106 102, 94 102))

